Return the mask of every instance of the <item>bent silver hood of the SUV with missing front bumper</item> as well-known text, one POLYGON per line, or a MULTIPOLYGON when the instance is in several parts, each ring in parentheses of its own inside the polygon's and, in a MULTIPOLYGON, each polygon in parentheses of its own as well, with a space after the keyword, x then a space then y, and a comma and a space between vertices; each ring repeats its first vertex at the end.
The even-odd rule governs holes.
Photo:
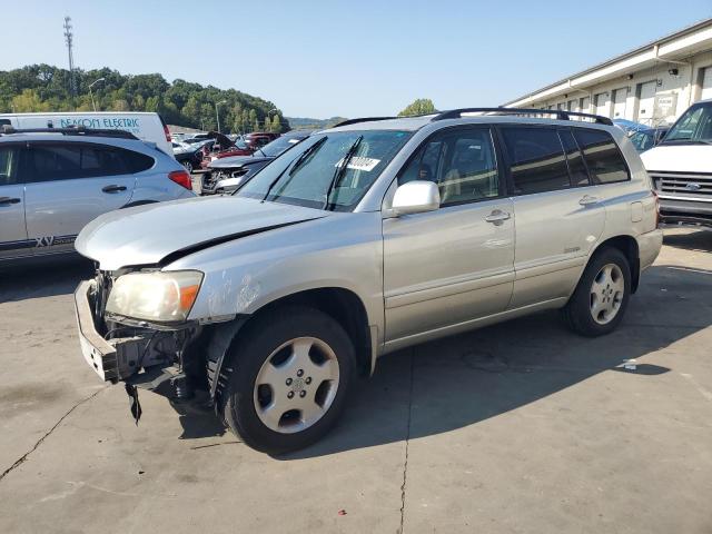
POLYGON ((81 230, 75 247, 103 270, 166 265, 192 251, 326 215, 233 196, 190 198, 102 215, 81 230))

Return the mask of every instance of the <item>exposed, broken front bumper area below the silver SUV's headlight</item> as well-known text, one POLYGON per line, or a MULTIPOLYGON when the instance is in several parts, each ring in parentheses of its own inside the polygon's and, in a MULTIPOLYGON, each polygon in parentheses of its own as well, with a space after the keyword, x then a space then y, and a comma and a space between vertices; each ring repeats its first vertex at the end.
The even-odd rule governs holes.
POLYGON ((138 421, 136 388, 180 399, 205 388, 205 362, 191 353, 202 327, 189 320, 161 324, 107 310, 117 278, 116 273, 98 271, 75 291, 79 339, 85 359, 101 379, 126 383, 138 421))

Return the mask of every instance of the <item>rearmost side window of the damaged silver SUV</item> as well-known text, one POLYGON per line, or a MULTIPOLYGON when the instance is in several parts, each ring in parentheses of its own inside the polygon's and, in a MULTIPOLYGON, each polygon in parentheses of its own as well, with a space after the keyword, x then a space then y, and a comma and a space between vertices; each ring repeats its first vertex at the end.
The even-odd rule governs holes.
POLYGON ((583 149, 583 158, 593 184, 611 184, 631 178, 625 160, 611 134, 575 128, 574 137, 583 149))

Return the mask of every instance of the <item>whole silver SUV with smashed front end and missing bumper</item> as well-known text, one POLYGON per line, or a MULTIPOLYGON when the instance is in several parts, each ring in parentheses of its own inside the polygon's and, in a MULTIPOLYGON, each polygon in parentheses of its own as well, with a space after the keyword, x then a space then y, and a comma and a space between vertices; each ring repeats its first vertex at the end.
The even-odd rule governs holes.
POLYGON ((136 387, 204 389, 245 443, 295 449, 387 353, 551 308, 584 336, 613 330, 660 251, 656 207, 601 117, 349 120, 236 195, 91 222, 82 353, 126 382, 136 417, 136 387))

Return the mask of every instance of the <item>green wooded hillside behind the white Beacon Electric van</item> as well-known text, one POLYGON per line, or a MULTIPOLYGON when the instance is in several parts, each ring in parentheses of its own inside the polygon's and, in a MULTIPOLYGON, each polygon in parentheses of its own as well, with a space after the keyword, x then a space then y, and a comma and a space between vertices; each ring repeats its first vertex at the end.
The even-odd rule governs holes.
POLYGON ((97 109, 103 111, 157 111, 170 125, 212 130, 217 128, 215 103, 224 132, 289 130, 289 122, 275 105, 235 89, 222 90, 177 79, 172 83, 158 73, 127 76, 109 68, 76 70, 77 93, 70 93, 66 69, 31 65, 0 70, 0 112, 90 111, 89 85, 93 86, 97 109), (270 119, 271 117, 271 119, 270 119), (278 130, 275 130, 278 128, 278 130))

